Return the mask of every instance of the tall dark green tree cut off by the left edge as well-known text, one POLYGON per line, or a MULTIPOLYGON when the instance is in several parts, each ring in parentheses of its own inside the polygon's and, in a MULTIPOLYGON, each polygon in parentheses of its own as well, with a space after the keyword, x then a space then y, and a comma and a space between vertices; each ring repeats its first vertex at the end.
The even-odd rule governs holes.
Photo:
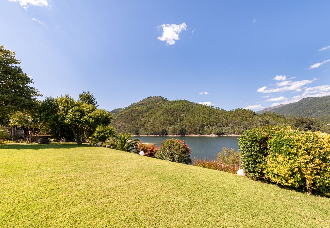
POLYGON ((0 45, 0 121, 7 120, 16 111, 24 112, 37 105, 39 91, 34 82, 18 66, 15 52, 0 45))

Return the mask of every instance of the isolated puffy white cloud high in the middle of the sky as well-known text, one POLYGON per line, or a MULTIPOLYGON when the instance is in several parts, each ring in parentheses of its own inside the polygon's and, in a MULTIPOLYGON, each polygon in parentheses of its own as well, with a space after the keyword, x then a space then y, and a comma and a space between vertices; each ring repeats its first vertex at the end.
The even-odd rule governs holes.
POLYGON ((182 23, 180 25, 177 24, 162 24, 158 26, 158 28, 163 28, 163 34, 161 37, 157 37, 160 41, 166 41, 166 45, 175 44, 175 41, 180 40, 179 33, 182 30, 187 30, 187 25, 182 23))

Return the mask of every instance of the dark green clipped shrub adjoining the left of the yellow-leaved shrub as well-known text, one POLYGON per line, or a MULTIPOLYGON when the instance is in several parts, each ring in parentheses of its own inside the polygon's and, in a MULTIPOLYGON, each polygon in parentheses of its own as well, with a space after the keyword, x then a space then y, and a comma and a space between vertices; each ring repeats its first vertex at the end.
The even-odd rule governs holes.
POLYGON ((268 155, 267 142, 274 132, 283 127, 266 126, 252 128, 243 132, 239 138, 241 151, 241 166, 244 172, 251 178, 263 180, 266 157, 268 155))

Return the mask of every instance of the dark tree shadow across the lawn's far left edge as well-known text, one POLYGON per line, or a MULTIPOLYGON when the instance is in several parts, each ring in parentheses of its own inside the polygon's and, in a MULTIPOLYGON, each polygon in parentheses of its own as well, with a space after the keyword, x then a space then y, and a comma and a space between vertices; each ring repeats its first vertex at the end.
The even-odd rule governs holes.
POLYGON ((50 144, 37 144, 37 143, 6 143, 0 144, 0 150, 44 150, 44 149, 69 149, 69 148, 82 148, 94 147, 89 144, 77 143, 50 143, 50 144))

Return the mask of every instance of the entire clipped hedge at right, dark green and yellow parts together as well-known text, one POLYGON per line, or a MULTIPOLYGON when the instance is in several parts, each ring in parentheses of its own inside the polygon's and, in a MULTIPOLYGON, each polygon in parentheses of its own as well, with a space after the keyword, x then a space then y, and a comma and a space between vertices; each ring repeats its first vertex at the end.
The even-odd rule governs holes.
POLYGON ((256 180, 330 196, 330 135, 266 126, 239 139, 242 168, 256 180))

